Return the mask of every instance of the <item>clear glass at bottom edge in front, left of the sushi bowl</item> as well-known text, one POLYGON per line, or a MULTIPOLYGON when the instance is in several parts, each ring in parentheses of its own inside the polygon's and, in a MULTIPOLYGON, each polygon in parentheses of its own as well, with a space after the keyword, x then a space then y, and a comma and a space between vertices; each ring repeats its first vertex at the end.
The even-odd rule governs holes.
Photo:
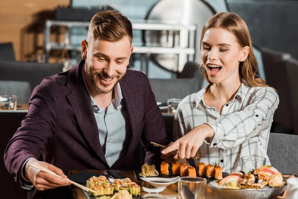
POLYGON ((205 178, 182 177, 178 181, 179 199, 205 199, 207 180, 205 178))

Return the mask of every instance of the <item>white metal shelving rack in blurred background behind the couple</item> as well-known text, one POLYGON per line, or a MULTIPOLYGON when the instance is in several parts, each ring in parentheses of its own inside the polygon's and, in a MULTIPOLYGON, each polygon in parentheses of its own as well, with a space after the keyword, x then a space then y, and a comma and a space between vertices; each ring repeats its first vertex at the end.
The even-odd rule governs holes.
MULTIPOLYGON (((150 54, 178 54, 178 66, 183 67, 187 61, 193 61, 195 55, 195 25, 184 25, 169 23, 160 23, 155 20, 131 20, 134 30, 161 30, 161 31, 175 31, 184 32, 183 38, 179 36, 179 39, 172 38, 173 47, 156 47, 156 46, 134 46, 134 53, 140 53, 146 55, 146 73, 148 73, 148 62, 150 54), (187 34, 185 34, 187 32, 187 34), (178 43, 178 44, 177 44, 178 43), (188 46, 185 45, 188 43, 188 46), (184 44, 183 47, 179 44, 184 44)), ((86 27, 88 28, 89 22, 82 21, 57 21, 57 20, 46 20, 45 34, 44 34, 44 48, 45 48, 45 59, 48 62, 51 50, 70 50, 70 51, 81 51, 81 47, 71 45, 71 28, 73 27, 86 27), (55 43, 50 41, 51 26, 63 26, 67 27, 65 32, 64 43, 55 43)), ((143 55, 142 55, 143 56, 143 55)), ((142 63, 143 68, 143 63, 142 63)), ((142 69, 143 70, 143 69, 142 69)), ((178 70, 177 70, 178 71, 178 70)))

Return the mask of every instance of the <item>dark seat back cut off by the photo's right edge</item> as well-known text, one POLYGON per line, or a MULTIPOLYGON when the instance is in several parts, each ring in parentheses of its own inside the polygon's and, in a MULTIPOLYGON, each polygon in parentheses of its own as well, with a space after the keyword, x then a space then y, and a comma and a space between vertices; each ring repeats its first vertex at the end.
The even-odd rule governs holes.
POLYGON ((298 135, 298 60, 293 58, 286 60, 286 69, 290 85, 291 111, 294 121, 293 129, 294 134, 298 135))

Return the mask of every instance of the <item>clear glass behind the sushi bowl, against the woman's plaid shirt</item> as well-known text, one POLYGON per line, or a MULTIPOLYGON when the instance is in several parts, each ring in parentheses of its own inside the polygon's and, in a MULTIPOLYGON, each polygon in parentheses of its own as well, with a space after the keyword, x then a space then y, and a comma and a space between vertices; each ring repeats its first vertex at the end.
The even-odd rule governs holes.
POLYGON ((253 170, 258 169, 259 167, 266 164, 266 158, 263 157, 252 157, 244 156, 241 157, 241 170, 246 174, 253 170))

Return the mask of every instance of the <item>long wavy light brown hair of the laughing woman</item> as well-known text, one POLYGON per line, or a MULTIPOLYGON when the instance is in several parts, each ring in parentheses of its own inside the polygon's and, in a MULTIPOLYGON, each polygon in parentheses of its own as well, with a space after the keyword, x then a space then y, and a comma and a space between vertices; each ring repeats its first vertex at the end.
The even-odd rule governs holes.
MULTIPOLYGON (((247 58, 243 62, 239 63, 239 76, 241 79, 245 80, 247 86, 268 87, 264 80, 256 75, 258 63, 256 57, 253 54, 251 38, 245 21, 239 15, 233 12, 217 13, 205 23, 201 36, 201 43, 206 31, 210 28, 223 28, 236 37, 240 47, 249 47, 249 54, 247 58)), ((206 81, 209 84, 213 84, 208 78, 207 71, 205 70, 203 63, 200 64, 199 68, 206 81)))

